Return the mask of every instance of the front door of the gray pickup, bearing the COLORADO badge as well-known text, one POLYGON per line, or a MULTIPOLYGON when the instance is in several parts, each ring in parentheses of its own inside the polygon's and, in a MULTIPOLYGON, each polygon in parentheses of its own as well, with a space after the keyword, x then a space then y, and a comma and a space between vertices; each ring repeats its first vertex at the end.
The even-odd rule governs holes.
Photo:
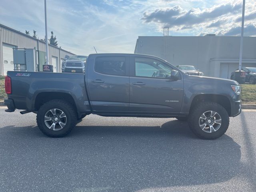
POLYGON ((179 113, 184 89, 181 74, 172 80, 173 66, 150 56, 132 56, 130 60, 130 111, 179 113))

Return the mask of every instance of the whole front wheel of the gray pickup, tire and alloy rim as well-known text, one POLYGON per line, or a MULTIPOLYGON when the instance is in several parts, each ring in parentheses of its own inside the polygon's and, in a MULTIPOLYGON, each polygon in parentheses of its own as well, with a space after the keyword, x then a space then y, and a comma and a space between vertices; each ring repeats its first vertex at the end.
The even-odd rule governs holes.
POLYGON ((191 110, 188 125, 196 136, 216 139, 228 129, 228 112, 217 103, 202 102, 191 110))

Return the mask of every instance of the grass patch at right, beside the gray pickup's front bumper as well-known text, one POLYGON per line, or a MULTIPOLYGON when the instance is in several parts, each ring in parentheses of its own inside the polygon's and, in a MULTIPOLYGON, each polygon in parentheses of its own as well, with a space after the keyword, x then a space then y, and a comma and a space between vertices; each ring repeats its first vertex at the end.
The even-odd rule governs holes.
POLYGON ((243 84, 241 85, 241 99, 243 103, 256 104, 256 85, 243 84))

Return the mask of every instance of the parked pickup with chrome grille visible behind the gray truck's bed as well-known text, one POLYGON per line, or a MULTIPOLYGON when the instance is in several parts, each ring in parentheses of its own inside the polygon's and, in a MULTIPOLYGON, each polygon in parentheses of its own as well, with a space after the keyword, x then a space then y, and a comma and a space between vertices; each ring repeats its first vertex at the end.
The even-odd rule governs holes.
POLYGON ((84 73, 87 56, 73 55, 62 62, 61 72, 63 73, 84 73))

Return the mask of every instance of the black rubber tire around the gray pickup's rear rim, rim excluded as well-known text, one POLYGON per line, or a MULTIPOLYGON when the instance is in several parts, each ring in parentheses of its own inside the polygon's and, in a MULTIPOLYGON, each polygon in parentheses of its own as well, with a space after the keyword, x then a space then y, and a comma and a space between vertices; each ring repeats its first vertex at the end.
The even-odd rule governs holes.
POLYGON ((69 102, 66 102, 64 100, 51 100, 40 107, 36 116, 36 122, 38 128, 45 135, 49 137, 63 137, 70 133, 72 128, 76 126, 77 113, 74 109, 74 106, 72 106, 69 102), (60 130, 52 130, 48 128, 46 126, 46 123, 44 122, 44 116, 51 109, 59 109, 66 114, 66 124, 60 130))

